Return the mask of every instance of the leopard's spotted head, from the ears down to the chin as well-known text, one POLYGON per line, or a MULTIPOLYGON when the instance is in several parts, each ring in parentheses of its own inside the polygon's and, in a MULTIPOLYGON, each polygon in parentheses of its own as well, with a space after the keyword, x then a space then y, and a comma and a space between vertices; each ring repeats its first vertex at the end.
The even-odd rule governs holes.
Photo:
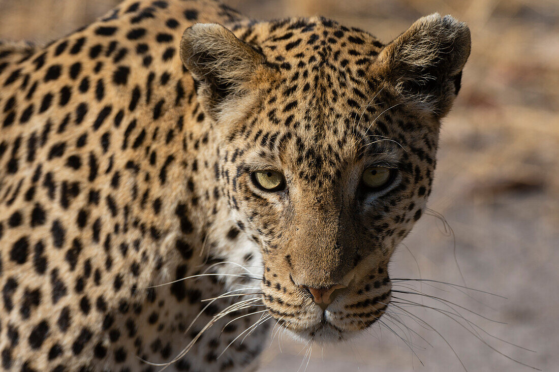
POLYGON ((195 26, 183 61, 219 131, 216 177, 262 253, 268 313, 302 339, 331 342, 370 326, 390 302, 387 266, 425 206, 439 119, 465 59, 435 78, 441 86, 414 91, 421 83, 390 67, 406 59, 395 56, 405 50, 398 39, 394 50, 365 32, 307 22, 315 32, 287 24, 260 41, 260 53, 235 39, 244 54, 229 65, 212 60, 233 34, 195 26), (243 59, 247 70, 231 72, 243 59))

